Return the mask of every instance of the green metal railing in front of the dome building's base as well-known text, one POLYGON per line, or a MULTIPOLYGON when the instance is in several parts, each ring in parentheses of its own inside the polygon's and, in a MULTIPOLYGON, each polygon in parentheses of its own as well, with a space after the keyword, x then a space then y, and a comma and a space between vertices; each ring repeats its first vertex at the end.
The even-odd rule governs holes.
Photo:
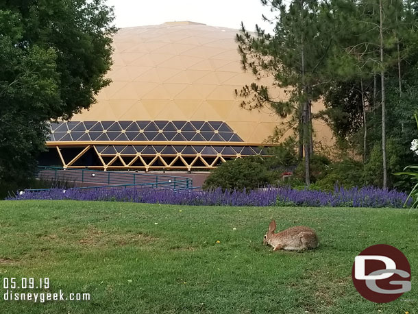
MULTIPOLYGON (((40 166, 35 175, 40 180, 88 185, 75 189, 144 186, 152 189, 176 190, 191 189, 193 187, 193 180, 190 178, 127 171, 95 171, 91 169, 64 169, 60 167, 40 166)), ((36 191, 41 190, 38 189, 36 191)))

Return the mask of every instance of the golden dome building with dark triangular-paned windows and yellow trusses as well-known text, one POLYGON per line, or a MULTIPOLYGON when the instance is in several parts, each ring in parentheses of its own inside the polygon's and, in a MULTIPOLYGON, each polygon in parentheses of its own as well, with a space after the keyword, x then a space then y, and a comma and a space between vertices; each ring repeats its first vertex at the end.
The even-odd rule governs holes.
MULTIPOLYGON (((267 108, 241 108, 235 90, 255 79, 241 68, 236 32, 191 22, 120 29, 112 83, 90 110, 51 124, 40 164, 190 170, 266 154, 262 143, 281 120, 267 108)), ((314 124, 330 143, 330 130, 314 124)))

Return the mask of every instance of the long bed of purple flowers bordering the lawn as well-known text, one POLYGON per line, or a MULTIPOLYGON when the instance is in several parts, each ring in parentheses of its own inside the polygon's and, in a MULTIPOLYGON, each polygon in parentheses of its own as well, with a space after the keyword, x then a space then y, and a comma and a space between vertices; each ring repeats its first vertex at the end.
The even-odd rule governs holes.
POLYGON ((253 191, 195 191, 162 189, 51 189, 9 197, 8 200, 84 200, 138 202, 174 205, 206 206, 345 206, 345 207, 392 207, 402 208, 408 195, 395 190, 362 188, 332 192, 295 190, 289 187, 267 188, 253 191))

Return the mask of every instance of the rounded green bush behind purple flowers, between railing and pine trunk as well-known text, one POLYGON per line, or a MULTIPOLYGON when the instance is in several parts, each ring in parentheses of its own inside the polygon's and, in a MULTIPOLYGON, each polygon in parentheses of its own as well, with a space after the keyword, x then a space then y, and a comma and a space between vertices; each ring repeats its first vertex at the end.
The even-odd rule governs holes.
POLYGON ((214 169, 206 179, 203 188, 212 190, 251 190, 272 184, 274 172, 267 169, 264 160, 258 156, 236 158, 214 169))

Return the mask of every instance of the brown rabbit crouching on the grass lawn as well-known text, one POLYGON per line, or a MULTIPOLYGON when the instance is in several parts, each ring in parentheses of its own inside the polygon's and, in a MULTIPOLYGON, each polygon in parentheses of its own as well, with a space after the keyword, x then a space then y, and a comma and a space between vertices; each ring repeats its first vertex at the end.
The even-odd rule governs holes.
POLYGON ((271 245, 273 251, 301 251, 318 247, 318 237, 314 230, 305 226, 297 226, 274 233, 275 221, 269 224, 269 231, 264 236, 264 245, 271 245))

